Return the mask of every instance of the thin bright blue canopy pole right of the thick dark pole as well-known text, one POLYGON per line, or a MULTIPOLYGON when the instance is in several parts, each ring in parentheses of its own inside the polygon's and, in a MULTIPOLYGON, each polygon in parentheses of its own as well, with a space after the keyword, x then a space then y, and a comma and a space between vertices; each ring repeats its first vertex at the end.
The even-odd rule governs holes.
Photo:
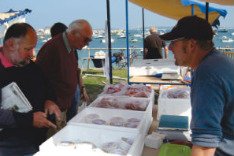
POLYGON ((127 82, 129 84, 129 36, 128 36, 128 0, 125 0, 125 12, 126 12, 126 48, 127 48, 127 82))

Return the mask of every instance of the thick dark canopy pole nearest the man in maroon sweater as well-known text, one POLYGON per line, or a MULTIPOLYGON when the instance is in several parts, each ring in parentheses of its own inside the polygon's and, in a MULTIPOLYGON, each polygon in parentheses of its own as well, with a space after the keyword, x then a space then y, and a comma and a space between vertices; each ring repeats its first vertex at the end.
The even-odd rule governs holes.
POLYGON ((107 28, 108 28, 108 55, 109 55, 109 81, 113 83, 112 76, 112 53, 111 53, 111 27, 110 27, 110 1, 106 0, 106 11, 107 11, 107 28))

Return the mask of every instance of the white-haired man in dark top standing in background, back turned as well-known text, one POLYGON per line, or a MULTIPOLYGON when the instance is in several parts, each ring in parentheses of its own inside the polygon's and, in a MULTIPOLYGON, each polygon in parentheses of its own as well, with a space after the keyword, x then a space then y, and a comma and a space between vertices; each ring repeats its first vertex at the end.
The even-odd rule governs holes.
POLYGON ((150 35, 144 39, 144 59, 163 58, 162 48, 164 48, 164 56, 167 58, 168 49, 166 43, 158 36, 156 27, 151 27, 149 31, 150 35))

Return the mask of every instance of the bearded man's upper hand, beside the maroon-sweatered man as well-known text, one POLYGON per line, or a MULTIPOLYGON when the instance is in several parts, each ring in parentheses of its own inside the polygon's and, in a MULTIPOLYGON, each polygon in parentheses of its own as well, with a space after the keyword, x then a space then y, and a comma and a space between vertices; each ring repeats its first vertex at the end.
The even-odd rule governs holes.
POLYGON ((45 102, 45 113, 49 113, 49 114, 55 114, 55 117, 58 121, 61 120, 61 111, 59 109, 59 107, 50 100, 46 100, 45 102))

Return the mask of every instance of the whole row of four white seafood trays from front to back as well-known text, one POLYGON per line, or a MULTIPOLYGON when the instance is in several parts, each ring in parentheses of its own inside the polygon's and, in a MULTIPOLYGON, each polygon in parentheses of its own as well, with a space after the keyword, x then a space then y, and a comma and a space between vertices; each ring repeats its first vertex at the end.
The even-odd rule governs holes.
POLYGON ((141 156, 152 123, 154 91, 145 85, 107 85, 89 107, 40 145, 36 155, 141 156))

